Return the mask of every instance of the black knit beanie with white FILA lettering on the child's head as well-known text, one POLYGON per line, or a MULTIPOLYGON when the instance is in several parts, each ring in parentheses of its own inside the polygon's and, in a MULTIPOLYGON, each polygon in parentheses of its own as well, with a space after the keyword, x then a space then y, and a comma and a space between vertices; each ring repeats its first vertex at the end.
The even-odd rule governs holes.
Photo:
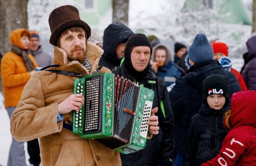
POLYGON ((203 102, 208 105, 207 97, 210 95, 223 95, 226 98, 226 107, 229 104, 229 81, 227 77, 220 74, 214 74, 205 78, 202 82, 203 102))

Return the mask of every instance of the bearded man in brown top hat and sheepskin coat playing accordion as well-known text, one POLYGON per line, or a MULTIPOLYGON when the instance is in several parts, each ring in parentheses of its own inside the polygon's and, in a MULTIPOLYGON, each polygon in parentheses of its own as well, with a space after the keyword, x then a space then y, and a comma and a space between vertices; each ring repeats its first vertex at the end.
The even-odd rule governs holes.
MULTIPOLYGON (((40 138, 44 166, 120 166, 118 152, 96 140, 81 139, 63 127, 72 121, 73 110, 78 111, 86 100, 73 94, 74 79, 97 70, 103 50, 87 42, 91 29, 74 6, 54 9, 49 25, 53 65, 48 71, 36 72, 26 84, 11 117, 11 134, 18 141, 40 138)), ((110 70, 102 67, 99 72, 110 70)), ((157 116, 152 114, 148 124, 150 131, 158 134, 157 116)))

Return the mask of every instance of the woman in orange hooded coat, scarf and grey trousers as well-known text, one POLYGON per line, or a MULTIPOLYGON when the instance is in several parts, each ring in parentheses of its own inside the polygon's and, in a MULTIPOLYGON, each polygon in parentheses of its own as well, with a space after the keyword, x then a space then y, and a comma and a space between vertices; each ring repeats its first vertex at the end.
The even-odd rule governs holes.
MULTIPOLYGON (((27 53, 30 34, 27 29, 16 29, 10 34, 11 51, 1 60, 1 79, 4 103, 9 118, 18 104, 23 88, 35 73, 37 64, 34 57, 27 53)), ((27 166, 24 142, 12 140, 7 166, 27 166)))

